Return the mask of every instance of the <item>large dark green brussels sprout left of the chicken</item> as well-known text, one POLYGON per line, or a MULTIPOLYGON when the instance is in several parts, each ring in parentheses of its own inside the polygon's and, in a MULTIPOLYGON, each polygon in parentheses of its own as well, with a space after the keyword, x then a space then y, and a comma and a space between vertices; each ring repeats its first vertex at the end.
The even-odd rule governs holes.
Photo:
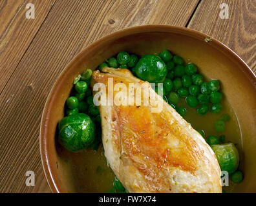
POLYGON ((78 113, 59 121, 59 143, 68 151, 78 151, 94 141, 95 124, 88 115, 78 113))

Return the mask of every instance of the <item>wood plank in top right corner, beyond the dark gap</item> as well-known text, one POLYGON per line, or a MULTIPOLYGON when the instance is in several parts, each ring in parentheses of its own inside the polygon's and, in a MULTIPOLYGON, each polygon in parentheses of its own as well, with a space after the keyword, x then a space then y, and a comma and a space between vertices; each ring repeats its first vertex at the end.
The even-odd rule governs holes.
POLYGON ((226 44, 256 73, 256 1, 202 0, 188 28, 204 32, 226 44), (229 7, 229 18, 221 19, 220 4, 229 7))

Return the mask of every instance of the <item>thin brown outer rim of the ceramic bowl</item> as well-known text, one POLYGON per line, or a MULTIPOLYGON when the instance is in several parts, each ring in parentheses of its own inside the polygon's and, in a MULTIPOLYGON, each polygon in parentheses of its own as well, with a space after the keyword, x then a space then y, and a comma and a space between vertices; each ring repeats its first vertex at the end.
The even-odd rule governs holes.
MULTIPOLYGON (((123 30, 118 30, 117 32, 113 32, 109 35, 106 35, 105 37, 102 37, 98 41, 92 42, 92 44, 87 46, 87 48, 85 48, 85 50, 78 53, 78 55, 76 55, 72 59, 72 61, 70 61, 69 64, 67 64, 65 69, 63 71, 61 71, 58 79, 56 80, 56 82, 54 82, 52 89, 50 89, 50 93, 48 94, 47 101, 46 101, 45 107, 43 109, 43 115, 41 118, 40 135, 39 135, 41 161, 43 164, 43 170, 45 172, 45 176, 47 178, 48 185, 50 186, 50 189, 52 190, 52 192, 60 192, 61 188, 59 188, 58 185, 56 185, 56 182, 54 182, 54 178, 52 176, 52 174, 54 172, 52 172, 53 169, 50 167, 50 164, 49 164, 50 157, 48 156, 48 152, 47 152, 47 144, 48 144, 47 138, 44 138, 45 134, 47 134, 48 127, 44 127, 43 125, 45 125, 45 123, 47 123, 47 120, 48 120, 47 108, 50 104, 49 97, 51 97, 53 95, 54 90, 58 85, 57 83, 59 82, 59 79, 61 79, 61 77, 67 70, 67 68, 69 68, 69 66, 72 65, 74 63, 74 61, 76 61, 76 59, 79 59, 80 57, 82 57, 83 54, 86 53, 87 50, 94 48, 100 42, 105 41, 107 39, 123 37, 124 35, 122 35, 122 33, 125 33, 125 35, 130 35, 130 34, 134 34, 134 33, 143 33, 143 32, 175 32, 175 33, 182 33, 184 35, 189 35, 190 37, 194 37, 194 38, 200 39, 200 40, 205 39, 206 37, 209 37, 208 35, 206 35, 204 33, 198 32, 196 30, 191 30, 189 28, 184 28, 182 26, 170 26, 170 25, 164 25, 164 24, 149 24, 149 25, 143 25, 143 26, 133 26, 133 27, 125 28, 123 30)), ((226 46, 225 44, 222 44, 222 42, 217 41, 213 38, 211 38, 211 46, 220 47, 220 48, 222 48, 223 52, 227 52, 229 55, 232 55, 233 57, 235 57, 237 62, 244 65, 244 67, 246 68, 246 71, 244 71, 244 72, 246 72, 249 75, 249 78, 253 82, 256 82, 256 75, 253 73, 253 71, 250 69, 250 67, 246 64, 246 62, 244 62, 239 57, 239 55, 237 55, 235 52, 233 52, 233 50, 228 48, 228 46, 226 46)))

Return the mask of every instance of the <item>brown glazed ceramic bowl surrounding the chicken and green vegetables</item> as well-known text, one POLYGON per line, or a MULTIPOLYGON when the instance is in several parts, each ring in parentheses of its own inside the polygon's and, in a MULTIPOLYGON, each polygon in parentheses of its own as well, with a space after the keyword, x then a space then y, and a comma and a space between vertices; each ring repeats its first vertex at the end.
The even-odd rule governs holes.
POLYGON ((92 43, 67 65, 52 87, 41 119, 41 160, 52 192, 78 192, 72 170, 56 149, 56 126, 63 118, 72 82, 85 68, 98 65, 120 51, 138 55, 169 49, 202 68, 206 77, 222 82, 240 122, 244 180, 233 192, 256 192, 256 77, 238 55, 204 33, 178 26, 146 25, 111 33, 92 43), (208 40, 208 41, 207 41, 208 40))

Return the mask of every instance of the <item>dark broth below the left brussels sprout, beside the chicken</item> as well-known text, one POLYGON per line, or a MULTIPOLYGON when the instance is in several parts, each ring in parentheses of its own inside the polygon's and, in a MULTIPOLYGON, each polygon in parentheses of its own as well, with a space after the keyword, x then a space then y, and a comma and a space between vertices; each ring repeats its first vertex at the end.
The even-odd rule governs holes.
POLYGON ((114 173, 107 165, 102 144, 98 151, 83 149, 73 153, 59 149, 58 153, 72 173, 76 192, 108 192, 112 188, 114 173))

